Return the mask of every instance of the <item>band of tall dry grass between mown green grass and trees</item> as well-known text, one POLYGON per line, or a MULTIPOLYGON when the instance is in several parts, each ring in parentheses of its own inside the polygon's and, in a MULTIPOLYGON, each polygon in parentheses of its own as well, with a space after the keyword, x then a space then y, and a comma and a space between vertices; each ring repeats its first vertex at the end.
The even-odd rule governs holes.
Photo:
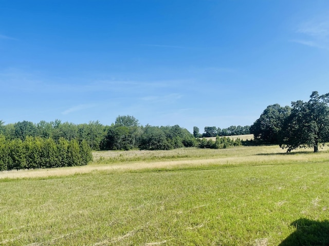
POLYGON ((143 169, 177 169, 185 167, 267 165, 291 162, 321 161, 328 147, 312 154, 312 149, 285 153, 278 146, 234 147, 222 150, 182 148, 170 151, 96 151, 87 166, 0 172, 3 178, 52 177, 90 173, 93 171, 124 171, 143 169))

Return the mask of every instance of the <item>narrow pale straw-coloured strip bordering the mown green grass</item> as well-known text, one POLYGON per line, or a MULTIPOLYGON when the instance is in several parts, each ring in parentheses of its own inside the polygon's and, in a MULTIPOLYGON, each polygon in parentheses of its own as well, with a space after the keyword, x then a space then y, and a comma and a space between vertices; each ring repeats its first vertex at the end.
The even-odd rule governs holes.
MULTIPOLYGON (((310 158, 311 160, 312 158, 310 158)), ((196 158, 184 160, 161 160, 161 161, 129 161, 117 162, 109 164, 90 164, 78 167, 53 168, 53 169, 35 169, 35 170, 11 170, 0 172, 0 179, 3 178, 33 178, 33 177, 52 177, 52 176, 66 176, 74 174, 90 173, 93 171, 124 171, 124 170, 142 170, 142 169, 163 169, 175 167, 193 167, 193 166, 207 166, 207 165, 266 165, 267 162, 281 163, 282 161, 305 162, 308 158, 304 155, 296 156, 240 156, 240 157, 216 157, 216 158, 196 158)))

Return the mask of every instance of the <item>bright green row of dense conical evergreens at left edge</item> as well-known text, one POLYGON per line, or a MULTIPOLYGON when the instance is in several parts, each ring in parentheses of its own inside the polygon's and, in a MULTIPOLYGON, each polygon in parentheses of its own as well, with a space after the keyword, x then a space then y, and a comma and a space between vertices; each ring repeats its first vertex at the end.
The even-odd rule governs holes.
POLYGON ((0 171, 87 165, 93 159, 85 140, 26 137, 6 140, 0 135, 0 171))

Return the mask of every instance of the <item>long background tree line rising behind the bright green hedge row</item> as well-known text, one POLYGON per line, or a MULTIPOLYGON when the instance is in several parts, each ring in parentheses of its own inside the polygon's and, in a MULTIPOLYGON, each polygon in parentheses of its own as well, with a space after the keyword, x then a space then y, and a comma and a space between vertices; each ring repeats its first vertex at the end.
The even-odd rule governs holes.
MULTIPOLYGON (((234 129, 239 129, 239 133, 241 133, 241 128, 230 127, 229 132, 233 133, 234 129)), ((216 130, 218 129, 216 128, 216 130)), ((217 140, 217 142, 211 139, 198 139, 218 135, 209 135, 207 131, 205 134, 198 134, 195 137, 187 129, 178 125, 141 126, 138 120, 130 115, 119 115, 111 126, 104 126, 99 121, 76 125, 61 122, 58 119, 50 122, 42 120, 37 124, 24 120, 15 124, 4 125, 4 122, 0 120, 0 134, 7 140, 20 139, 24 141, 26 137, 30 136, 41 139, 51 138, 58 144, 60 139, 63 138, 68 141, 76 140, 79 143, 85 141, 92 150, 171 150, 182 147, 227 148, 241 144, 239 140, 234 142, 226 138, 217 140), (205 144, 205 141, 209 143, 205 144), (225 141, 225 143, 219 141, 225 141)), ((237 133, 238 131, 234 132, 237 133)))

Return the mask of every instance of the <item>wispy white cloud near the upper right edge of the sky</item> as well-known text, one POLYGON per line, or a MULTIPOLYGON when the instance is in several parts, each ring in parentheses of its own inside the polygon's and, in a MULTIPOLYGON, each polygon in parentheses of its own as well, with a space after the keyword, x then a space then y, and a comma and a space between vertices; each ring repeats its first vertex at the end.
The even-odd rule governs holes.
POLYGON ((296 33, 300 36, 291 42, 329 50, 329 15, 320 15, 301 23, 296 33))

